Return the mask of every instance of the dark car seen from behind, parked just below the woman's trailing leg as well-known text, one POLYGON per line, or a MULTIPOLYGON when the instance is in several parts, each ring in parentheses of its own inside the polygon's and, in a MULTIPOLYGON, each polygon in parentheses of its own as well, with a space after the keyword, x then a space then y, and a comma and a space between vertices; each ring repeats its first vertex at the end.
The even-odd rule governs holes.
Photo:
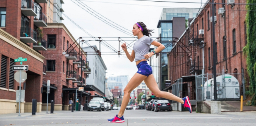
POLYGON ((154 111, 158 112, 159 110, 172 111, 172 107, 171 107, 171 104, 169 103, 169 101, 168 100, 158 100, 156 102, 154 111))

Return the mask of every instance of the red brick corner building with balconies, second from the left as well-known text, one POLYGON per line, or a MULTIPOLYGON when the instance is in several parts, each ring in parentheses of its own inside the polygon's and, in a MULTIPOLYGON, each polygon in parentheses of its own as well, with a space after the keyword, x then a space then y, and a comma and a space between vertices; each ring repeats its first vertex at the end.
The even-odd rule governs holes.
MULTIPOLYGON (((46 74, 43 80, 50 80, 52 90, 49 94, 49 101, 55 101, 55 110, 68 110, 68 101, 77 99, 80 101, 80 91, 78 87, 85 86, 86 75, 88 71, 88 63, 86 62, 86 54, 79 46, 68 29, 62 23, 48 23, 48 27, 44 27, 44 37, 48 38, 47 51, 43 52, 45 56, 44 65, 46 65, 46 74), (82 73, 81 73, 82 66, 82 73), (81 77, 82 74, 82 77, 81 77)), ((82 91, 82 105, 90 93, 82 91)), ((43 87, 43 106, 46 106, 46 87, 43 87)), ((46 108, 44 108, 46 109, 46 108)))

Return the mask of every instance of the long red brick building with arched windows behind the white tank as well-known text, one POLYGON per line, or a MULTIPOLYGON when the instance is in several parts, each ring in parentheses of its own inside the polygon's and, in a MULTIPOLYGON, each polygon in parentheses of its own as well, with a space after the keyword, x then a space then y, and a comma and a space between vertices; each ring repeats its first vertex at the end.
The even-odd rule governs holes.
MULTIPOLYGON (((209 0, 208 0, 209 2, 209 0)), ((210 1, 212 2, 212 1, 210 1)), ((226 0, 214 0, 212 4, 205 4, 192 21, 189 27, 180 37, 178 42, 174 42, 172 51, 168 54, 168 79, 172 84, 182 76, 202 74, 203 61, 204 73, 213 73, 213 46, 216 45, 216 73, 228 74, 242 73, 246 75, 246 59, 243 55, 243 47, 246 45, 246 6, 239 4, 225 4, 226 0), (215 11, 215 21, 212 21, 212 11, 215 11), (215 23, 215 42, 212 41, 212 23, 215 23), (203 45, 200 42, 204 42, 203 45), (202 54, 204 53, 204 57, 202 54)), ((246 0, 236 1, 246 3, 246 0)), ((217 75, 218 76, 218 75, 217 75)), ((235 76, 242 85, 242 75, 235 76)), ((187 80, 188 81, 188 80, 187 80)), ((184 79, 183 79, 184 82, 184 79)), ((183 95, 188 95, 190 99, 196 99, 195 81, 185 82, 183 95), (185 84, 186 83, 186 84, 185 84)), ((248 84, 248 81, 247 81, 248 84)), ((246 84, 246 85, 247 85, 246 84)), ((166 88, 168 90, 170 88, 166 88)), ((170 91, 170 90, 169 90, 170 91)), ((242 89, 240 89, 242 93, 242 89)))

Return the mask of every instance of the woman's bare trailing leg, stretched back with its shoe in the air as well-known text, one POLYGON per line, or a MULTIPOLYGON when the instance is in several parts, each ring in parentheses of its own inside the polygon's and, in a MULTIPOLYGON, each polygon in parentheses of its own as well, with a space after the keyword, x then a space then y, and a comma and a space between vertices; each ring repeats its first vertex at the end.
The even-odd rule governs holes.
POLYGON ((144 82, 156 97, 163 97, 184 104, 184 101, 180 97, 177 97, 170 92, 160 91, 153 74, 144 79, 144 82))

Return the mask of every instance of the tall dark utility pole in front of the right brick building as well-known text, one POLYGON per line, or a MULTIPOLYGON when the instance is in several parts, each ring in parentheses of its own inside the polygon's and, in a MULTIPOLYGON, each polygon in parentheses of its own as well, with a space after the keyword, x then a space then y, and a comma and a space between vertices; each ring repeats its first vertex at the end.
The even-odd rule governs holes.
POLYGON ((212 0, 212 48, 213 48, 213 81, 214 81, 214 101, 217 100, 217 83, 216 83, 216 44, 215 44, 215 16, 214 0, 212 0))

